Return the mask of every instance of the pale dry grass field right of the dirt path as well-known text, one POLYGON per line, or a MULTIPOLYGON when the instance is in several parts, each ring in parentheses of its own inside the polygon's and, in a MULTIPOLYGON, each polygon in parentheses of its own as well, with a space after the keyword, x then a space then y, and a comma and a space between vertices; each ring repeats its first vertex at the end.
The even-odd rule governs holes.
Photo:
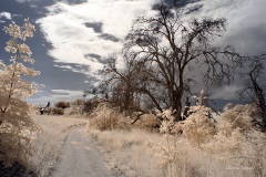
POLYGON ((215 144, 197 147, 183 137, 140 129, 89 129, 89 133, 116 177, 259 177, 265 174, 265 150, 257 152, 253 149, 257 146, 244 142, 238 144, 244 147, 236 150, 228 147, 234 146, 228 144, 234 139, 225 140, 221 149, 215 144))

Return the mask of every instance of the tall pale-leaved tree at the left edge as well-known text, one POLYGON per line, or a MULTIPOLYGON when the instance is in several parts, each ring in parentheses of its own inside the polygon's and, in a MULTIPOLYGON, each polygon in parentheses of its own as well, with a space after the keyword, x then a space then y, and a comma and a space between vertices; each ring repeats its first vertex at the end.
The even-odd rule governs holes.
POLYGON ((21 76, 40 74, 23 64, 34 62, 30 48, 24 43, 33 37, 34 25, 25 19, 22 27, 11 22, 3 30, 11 37, 6 51, 12 56, 9 65, 0 61, 0 163, 11 165, 17 160, 23 164, 30 155, 31 133, 34 131, 29 106, 23 100, 35 90, 21 76))

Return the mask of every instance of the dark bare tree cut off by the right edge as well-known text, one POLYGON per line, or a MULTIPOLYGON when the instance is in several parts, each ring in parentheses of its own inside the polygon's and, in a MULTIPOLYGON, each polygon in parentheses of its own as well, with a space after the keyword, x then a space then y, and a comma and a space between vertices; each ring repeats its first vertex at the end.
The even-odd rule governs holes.
POLYGON ((244 72, 242 72, 241 76, 244 81, 244 87, 239 92, 239 95, 244 98, 250 98, 253 103, 257 105, 259 108, 259 114, 262 119, 254 119, 256 124, 258 124, 264 131, 266 131, 266 102, 265 102, 265 93, 262 82, 264 74, 266 54, 259 56, 248 56, 246 58, 244 72))

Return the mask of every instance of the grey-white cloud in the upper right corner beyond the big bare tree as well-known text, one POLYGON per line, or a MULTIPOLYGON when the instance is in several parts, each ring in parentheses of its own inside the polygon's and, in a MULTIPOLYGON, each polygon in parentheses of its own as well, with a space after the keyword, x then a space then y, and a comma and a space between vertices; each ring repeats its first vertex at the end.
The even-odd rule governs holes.
POLYGON ((265 53, 265 0, 202 0, 190 3, 186 11, 198 9, 184 18, 225 18, 227 32, 216 44, 232 44, 243 54, 265 53))

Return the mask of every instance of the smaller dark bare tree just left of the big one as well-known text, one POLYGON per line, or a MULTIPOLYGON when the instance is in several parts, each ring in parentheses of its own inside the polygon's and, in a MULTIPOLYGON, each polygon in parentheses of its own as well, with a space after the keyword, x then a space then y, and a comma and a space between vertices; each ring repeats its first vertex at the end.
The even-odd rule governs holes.
POLYGON ((133 56, 126 56, 124 64, 126 70, 119 70, 116 65, 116 56, 111 56, 109 59, 109 64, 101 71, 104 75, 104 85, 110 87, 112 94, 109 101, 114 105, 120 107, 120 111, 142 111, 136 104, 137 102, 137 91, 134 90, 136 84, 137 70, 140 63, 132 60, 133 56))

